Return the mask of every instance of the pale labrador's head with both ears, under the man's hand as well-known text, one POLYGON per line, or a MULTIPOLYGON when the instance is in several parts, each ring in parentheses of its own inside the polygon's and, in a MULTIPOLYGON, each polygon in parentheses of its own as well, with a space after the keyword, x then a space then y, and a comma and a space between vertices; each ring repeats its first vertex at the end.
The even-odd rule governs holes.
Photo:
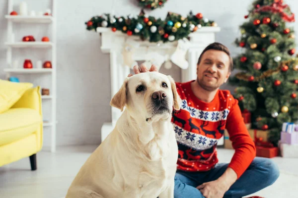
POLYGON ((168 117, 173 108, 180 109, 180 102, 171 76, 158 72, 145 72, 126 78, 110 104, 121 111, 126 106, 133 117, 149 121, 168 117))

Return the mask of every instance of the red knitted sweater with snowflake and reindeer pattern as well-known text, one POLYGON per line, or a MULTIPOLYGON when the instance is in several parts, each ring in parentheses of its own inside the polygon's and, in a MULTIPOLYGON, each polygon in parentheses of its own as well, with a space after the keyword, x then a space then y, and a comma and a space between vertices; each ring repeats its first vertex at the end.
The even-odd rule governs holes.
POLYGON ((256 149, 243 122, 238 100, 229 91, 219 90, 213 101, 201 101, 193 94, 191 82, 176 83, 182 99, 181 110, 172 117, 179 149, 177 169, 212 169, 218 163, 217 143, 226 129, 235 149, 228 167, 239 178, 254 159, 256 149))

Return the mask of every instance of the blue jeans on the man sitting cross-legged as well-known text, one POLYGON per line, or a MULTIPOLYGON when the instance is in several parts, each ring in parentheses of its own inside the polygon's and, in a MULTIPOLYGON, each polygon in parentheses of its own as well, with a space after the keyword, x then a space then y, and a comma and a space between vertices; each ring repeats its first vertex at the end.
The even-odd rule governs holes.
MULTIPOLYGON (((177 170, 174 198, 204 198, 197 186, 217 180, 224 174, 228 164, 217 164, 207 172, 177 170)), ((241 198, 272 185, 279 177, 278 166, 268 158, 255 157, 246 171, 224 194, 224 198, 241 198)))

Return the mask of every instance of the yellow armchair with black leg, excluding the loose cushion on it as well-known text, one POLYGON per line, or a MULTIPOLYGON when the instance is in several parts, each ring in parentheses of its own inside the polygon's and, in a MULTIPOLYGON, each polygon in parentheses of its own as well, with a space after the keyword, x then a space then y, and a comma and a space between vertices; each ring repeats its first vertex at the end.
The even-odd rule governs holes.
POLYGON ((29 88, 8 110, 0 113, 0 166, 30 157, 36 170, 36 153, 43 143, 40 87, 29 88))

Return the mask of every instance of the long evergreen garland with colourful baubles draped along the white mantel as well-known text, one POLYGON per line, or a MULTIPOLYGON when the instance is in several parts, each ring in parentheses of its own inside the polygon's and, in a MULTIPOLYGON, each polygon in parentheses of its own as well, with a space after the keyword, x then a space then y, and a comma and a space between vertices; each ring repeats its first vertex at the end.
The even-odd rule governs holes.
POLYGON ((85 24, 87 30, 96 31, 97 27, 108 27, 113 32, 119 30, 129 36, 139 36, 143 41, 164 43, 187 38, 190 33, 204 26, 217 26, 216 22, 203 17, 202 13, 193 15, 190 12, 185 18, 180 14, 168 12, 166 19, 161 20, 146 16, 143 10, 137 17, 132 15, 116 17, 110 14, 94 16, 85 24))

